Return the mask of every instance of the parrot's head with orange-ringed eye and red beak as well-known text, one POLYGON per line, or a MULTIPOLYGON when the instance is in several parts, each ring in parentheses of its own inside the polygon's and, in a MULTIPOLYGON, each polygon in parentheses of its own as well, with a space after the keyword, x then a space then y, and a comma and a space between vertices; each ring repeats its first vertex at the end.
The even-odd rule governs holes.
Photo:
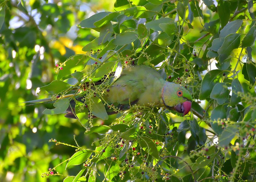
POLYGON ((162 100, 166 108, 188 114, 191 109, 192 96, 179 84, 166 82, 162 90, 162 100))

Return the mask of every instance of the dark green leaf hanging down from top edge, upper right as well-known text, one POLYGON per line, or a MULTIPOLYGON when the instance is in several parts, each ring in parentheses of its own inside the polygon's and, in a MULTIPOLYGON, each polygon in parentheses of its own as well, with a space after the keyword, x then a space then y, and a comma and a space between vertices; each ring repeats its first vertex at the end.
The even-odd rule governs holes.
POLYGON ((229 22, 230 17, 230 2, 219 0, 218 1, 218 13, 219 19, 221 20, 221 27, 225 27, 227 22, 229 22))

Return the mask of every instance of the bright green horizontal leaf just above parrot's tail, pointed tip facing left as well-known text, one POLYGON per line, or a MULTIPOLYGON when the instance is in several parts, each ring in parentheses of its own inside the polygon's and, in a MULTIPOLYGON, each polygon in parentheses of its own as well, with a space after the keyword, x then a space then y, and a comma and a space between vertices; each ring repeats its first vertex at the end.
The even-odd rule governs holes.
POLYGON ((54 80, 49 85, 43 86, 40 90, 46 90, 50 94, 59 94, 60 92, 68 89, 70 85, 63 81, 54 80))

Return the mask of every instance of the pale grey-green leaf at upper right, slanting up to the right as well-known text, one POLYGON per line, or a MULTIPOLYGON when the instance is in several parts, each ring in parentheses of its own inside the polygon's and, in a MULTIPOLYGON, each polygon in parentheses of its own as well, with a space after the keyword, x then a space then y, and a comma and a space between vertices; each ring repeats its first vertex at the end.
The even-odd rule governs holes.
POLYGON ((228 24, 226 24, 225 27, 222 28, 219 37, 226 37, 230 35, 231 33, 236 33, 238 29, 241 27, 243 23, 243 20, 235 20, 235 21, 230 21, 228 24))

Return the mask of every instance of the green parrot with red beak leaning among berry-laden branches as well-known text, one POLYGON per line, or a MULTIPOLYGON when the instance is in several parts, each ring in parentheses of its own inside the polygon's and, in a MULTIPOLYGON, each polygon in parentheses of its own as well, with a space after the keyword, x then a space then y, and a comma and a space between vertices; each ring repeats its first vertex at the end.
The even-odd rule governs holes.
MULTIPOLYGON (((108 104, 114 104, 120 110, 129 109, 130 105, 165 107, 188 114, 191 109, 192 96, 180 84, 167 82, 153 67, 140 65, 123 69, 120 77, 110 86, 104 96, 108 104)), ((108 112, 108 111, 107 111, 108 112)), ((65 115, 76 118, 71 109, 65 115)), ((115 112, 108 112, 115 114, 115 112)))

